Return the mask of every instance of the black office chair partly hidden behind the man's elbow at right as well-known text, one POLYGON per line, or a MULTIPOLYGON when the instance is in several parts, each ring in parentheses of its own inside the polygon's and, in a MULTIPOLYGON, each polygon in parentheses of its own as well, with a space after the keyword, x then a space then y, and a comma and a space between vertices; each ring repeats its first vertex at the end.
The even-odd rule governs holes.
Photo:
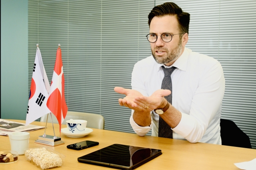
POLYGON ((233 121, 220 119, 222 145, 252 148, 250 138, 233 121))

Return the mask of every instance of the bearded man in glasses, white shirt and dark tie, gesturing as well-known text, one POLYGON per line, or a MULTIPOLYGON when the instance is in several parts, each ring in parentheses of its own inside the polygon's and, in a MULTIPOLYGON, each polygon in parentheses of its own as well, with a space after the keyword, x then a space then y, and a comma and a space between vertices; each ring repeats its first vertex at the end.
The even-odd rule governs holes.
POLYGON ((133 109, 130 124, 144 136, 221 144, 220 116, 225 79, 220 63, 185 47, 190 14, 172 2, 148 15, 152 55, 134 65, 132 90, 121 106, 133 109))

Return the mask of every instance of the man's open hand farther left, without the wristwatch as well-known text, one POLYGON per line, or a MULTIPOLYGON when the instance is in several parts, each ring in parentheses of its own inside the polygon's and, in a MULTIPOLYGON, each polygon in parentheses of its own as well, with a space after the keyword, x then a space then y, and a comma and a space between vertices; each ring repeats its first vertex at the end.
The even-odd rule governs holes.
POLYGON ((143 95, 136 91, 136 90, 132 90, 132 89, 124 89, 122 87, 115 87, 114 91, 123 95, 126 95, 126 97, 124 97, 124 99, 118 99, 119 105, 120 106, 125 106, 128 107, 130 109, 134 109, 137 111, 146 111, 147 110, 147 106, 146 105, 138 105, 136 103, 134 103, 134 99, 137 97, 143 97, 143 95))

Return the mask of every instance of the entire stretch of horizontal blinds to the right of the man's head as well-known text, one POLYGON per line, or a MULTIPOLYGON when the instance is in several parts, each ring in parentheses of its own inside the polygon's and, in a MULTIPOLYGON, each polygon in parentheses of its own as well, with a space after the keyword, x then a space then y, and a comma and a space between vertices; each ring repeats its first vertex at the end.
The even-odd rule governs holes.
MULTIPOLYGON (((156 0, 156 5, 166 1, 156 0)), ((220 61, 226 79, 222 118, 256 148, 256 1, 174 0, 190 13, 186 47, 220 61)))

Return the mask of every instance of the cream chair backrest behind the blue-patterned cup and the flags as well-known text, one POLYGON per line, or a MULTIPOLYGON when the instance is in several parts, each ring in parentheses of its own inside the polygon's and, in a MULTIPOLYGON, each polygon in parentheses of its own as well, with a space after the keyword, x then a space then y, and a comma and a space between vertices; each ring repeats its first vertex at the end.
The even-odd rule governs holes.
MULTIPOLYGON (((40 122, 46 122, 47 114, 41 117, 40 122)), ((102 115, 94 114, 94 113, 83 113, 83 112, 73 112, 68 111, 66 118, 64 119, 62 125, 66 125, 66 121, 70 119, 81 119, 86 120, 88 128, 98 128, 104 129, 104 117, 102 115)), ((52 114, 52 120, 50 115, 48 116, 48 123, 58 123, 57 118, 52 114)))

